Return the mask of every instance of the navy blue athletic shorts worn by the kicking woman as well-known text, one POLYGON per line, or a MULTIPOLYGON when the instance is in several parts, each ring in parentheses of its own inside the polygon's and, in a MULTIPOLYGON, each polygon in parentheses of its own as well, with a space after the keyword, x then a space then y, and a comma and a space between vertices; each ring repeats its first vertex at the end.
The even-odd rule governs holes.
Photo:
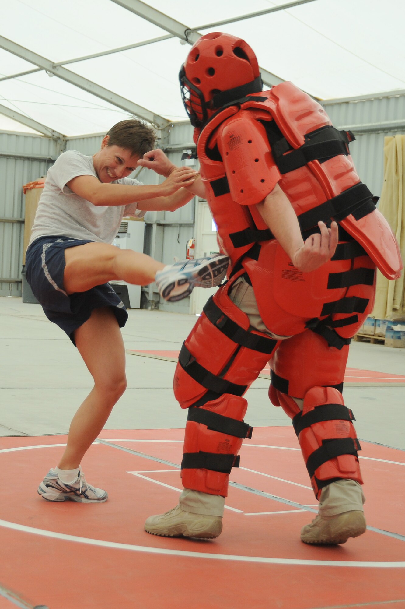
POLYGON ((93 242, 61 236, 40 237, 26 253, 26 278, 33 295, 50 322, 63 329, 74 345, 75 329, 89 319, 93 309, 111 307, 120 328, 128 319, 125 306, 109 283, 70 295, 64 291, 64 250, 85 243, 93 242))

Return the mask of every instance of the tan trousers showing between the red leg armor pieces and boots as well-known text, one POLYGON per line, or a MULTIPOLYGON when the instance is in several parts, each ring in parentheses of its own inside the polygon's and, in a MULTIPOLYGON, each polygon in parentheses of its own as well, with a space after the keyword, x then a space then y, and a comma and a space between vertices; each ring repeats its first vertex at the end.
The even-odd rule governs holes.
MULTIPOLYGON (((230 290, 229 297, 249 317, 252 328, 269 334, 272 338, 288 338, 287 336, 277 336, 277 334, 273 334, 266 328, 258 312, 253 288, 244 281, 243 277, 235 281, 232 290, 230 290)), ((296 399, 295 401, 297 406, 302 410, 303 400, 296 399)), ((319 501, 319 514, 321 516, 334 516, 342 512, 350 512, 351 510, 362 511, 364 501, 364 494, 358 482, 354 480, 338 480, 322 489, 319 501)), ((225 498, 185 488, 180 495, 179 503, 181 509, 185 510, 185 512, 223 516, 225 498)))

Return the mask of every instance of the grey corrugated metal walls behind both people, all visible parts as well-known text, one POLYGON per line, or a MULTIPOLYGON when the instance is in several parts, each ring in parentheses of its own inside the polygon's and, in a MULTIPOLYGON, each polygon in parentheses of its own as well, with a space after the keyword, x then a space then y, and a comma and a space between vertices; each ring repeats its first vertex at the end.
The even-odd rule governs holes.
MULTIPOLYGON (((384 136, 405 133, 405 92, 378 99, 328 100, 323 105, 336 127, 350 128, 355 133, 356 141, 350 149, 358 173, 374 194, 381 194, 384 136)), ((159 134, 159 138, 159 146, 167 150, 173 163, 180 165, 182 150, 193 143, 193 128, 189 122, 176 123, 159 134)), ((91 155, 97 152, 101 141, 100 134, 57 143, 43 136, 0 133, 0 279, 15 281, 21 278, 22 185, 45 175, 52 159, 61 152, 61 146, 66 144, 66 150, 91 155)), ((138 178, 145 184, 162 181, 154 172, 145 169, 138 178)), ((193 199, 173 213, 147 213, 145 253, 164 262, 171 262, 175 257, 184 258, 187 241, 193 236, 195 205, 193 199)), ((21 295, 21 283, 2 281, 0 295, 10 293, 21 295)), ((145 297, 156 300, 156 293, 147 290, 145 297)), ((184 311, 185 307, 185 303, 175 303, 171 310, 184 311)))

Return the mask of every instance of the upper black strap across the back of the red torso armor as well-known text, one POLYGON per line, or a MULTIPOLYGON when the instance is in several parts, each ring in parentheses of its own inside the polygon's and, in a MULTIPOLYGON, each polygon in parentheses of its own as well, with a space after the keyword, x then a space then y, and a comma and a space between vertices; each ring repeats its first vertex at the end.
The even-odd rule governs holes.
POLYGON ((285 138, 272 144, 271 152, 280 174, 299 169, 310 161, 328 160, 337 155, 348 155, 348 143, 351 141, 348 133, 339 131, 332 125, 325 125, 305 135, 306 142, 298 149, 292 149, 285 138))

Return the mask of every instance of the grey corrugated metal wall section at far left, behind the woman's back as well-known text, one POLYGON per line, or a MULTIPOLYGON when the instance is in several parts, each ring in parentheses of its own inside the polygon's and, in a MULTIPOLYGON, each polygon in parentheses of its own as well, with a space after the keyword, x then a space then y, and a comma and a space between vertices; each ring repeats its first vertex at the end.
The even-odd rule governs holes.
POLYGON ((50 138, 0 132, 0 295, 21 296, 25 202, 22 186, 46 175, 60 153, 50 138))

